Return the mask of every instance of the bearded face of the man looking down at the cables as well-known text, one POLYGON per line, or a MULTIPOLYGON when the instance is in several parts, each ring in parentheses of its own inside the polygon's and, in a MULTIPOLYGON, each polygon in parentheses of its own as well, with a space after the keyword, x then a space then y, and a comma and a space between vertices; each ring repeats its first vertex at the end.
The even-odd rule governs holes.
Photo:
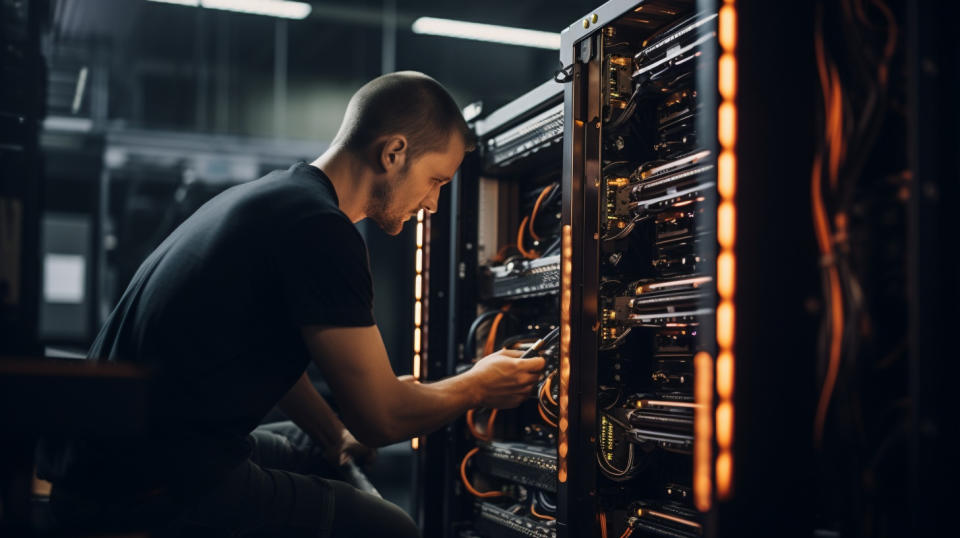
POLYGON ((374 185, 367 217, 383 231, 397 235, 403 223, 421 209, 437 211, 440 188, 453 178, 463 162, 464 143, 453 135, 443 152, 430 152, 407 163, 374 185))

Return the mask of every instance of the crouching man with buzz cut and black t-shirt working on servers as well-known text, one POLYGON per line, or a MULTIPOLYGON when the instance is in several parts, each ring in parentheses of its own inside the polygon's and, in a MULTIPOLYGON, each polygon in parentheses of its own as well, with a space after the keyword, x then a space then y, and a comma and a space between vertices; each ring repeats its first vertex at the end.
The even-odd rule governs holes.
POLYGON ((41 447, 55 515, 116 529, 417 536, 397 507, 314 470, 321 453, 337 460, 473 407, 515 407, 544 367, 504 350, 436 383, 398 379, 374 324, 354 223, 395 235, 436 211, 470 138, 435 80, 385 75, 353 96, 312 164, 228 189, 174 230, 90 350, 153 370, 151 433, 41 447), (349 430, 307 378, 311 359, 349 430), (251 434, 275 404, 300 430, 251 434))

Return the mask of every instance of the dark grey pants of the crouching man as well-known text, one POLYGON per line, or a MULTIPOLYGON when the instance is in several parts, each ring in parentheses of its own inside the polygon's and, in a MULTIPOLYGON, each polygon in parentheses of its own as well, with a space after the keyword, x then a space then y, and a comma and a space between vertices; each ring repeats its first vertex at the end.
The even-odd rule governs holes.
POLYGON ((396 505, 337 480, 292 422, 261 426, 249 440, 250 458, 202 494, 105 499, 54 485, 54 514, 69 529, 149 530, 157 538, 419 538, 396 505))

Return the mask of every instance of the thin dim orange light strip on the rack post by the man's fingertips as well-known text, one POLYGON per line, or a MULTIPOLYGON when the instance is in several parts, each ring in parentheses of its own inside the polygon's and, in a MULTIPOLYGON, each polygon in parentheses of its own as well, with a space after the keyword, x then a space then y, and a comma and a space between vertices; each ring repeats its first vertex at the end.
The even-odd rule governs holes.
POLYGON ((560 400, 557 422, 557 480, 567 481, 567 429, 569 422, 570 391, 570 304, 573 300, 573 228, 563 226, 562 256, 560 262, 560 400))

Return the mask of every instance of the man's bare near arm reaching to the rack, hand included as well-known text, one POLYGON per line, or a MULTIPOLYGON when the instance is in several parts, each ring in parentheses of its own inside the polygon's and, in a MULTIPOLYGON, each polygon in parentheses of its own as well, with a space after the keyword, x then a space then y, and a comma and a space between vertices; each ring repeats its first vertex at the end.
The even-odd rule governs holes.
POLYGON ((435 430, 474 407, 516 407, 532 393, 544 360, 500 351, 435 383, 406 383, 390 367, 380 331, 306 327, 303 337, 357 438, 379 446, 435 430))

